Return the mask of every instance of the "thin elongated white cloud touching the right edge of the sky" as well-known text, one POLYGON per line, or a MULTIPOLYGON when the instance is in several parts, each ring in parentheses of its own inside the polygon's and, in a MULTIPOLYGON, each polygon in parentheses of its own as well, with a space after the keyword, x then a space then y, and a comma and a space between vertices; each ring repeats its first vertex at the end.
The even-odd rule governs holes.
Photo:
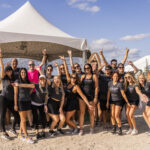
POLYGON ((149 36, 150 36, 149 33, 148 34, 127 35, 127 36, 120 38, 120 40, 122 40, 122 41, 137 41, 137 40, 142 40, 149 36))

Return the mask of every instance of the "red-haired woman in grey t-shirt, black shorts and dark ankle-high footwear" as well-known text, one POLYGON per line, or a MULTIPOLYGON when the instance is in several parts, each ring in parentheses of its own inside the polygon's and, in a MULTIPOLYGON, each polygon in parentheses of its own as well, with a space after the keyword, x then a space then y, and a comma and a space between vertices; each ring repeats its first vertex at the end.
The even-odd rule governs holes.
POLYGON ((112 81, 108 83, 107 108, 109 108, 110 104, 111 121, 113 125, 112 133, 116 133, 116 122, 117 122, 119 128, 118 132, 119 135, 122 135, 120 114, 124 100, 127 102, 128 106, 130 106, 126 94, 124 92, 123 84, 119 82, 119 73, 115 72, 112 75, 112 81))

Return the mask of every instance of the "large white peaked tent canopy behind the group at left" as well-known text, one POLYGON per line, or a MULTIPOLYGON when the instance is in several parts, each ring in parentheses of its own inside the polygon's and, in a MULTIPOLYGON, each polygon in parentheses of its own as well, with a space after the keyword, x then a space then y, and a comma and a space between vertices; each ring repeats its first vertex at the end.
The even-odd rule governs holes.
POLYGON ((71 49, 74 56, 82 56, 87 42, 68 35, 56 28, 36 9, 26 2, 12 15, 0 21, 0 46, 5 57, 40 59, 41 49, 46 48, 49 60, 66 55, 71 49))

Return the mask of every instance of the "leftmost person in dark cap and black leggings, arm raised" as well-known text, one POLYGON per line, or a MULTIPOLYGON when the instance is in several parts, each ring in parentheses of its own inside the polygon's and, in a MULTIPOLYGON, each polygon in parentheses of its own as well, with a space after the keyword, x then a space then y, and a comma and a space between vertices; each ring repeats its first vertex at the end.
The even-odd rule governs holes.
POLYGON ((13 135, 17 135, 15 126, 16 123, 19 122, 18 113, 14 110, 14 88, 13 88, 13 70, 11 66, 6 66, 4 68, 3 59, 2 59, 2 50, 0 48, 0 67, 1 67, 1 78, 2 78, 2 93, 0 97, 0 126, 2 130, 2 138, 9 139, 9 135, 5 129, 5 116, 7 109, 14 116, 14 120, 12 121, 11 133, 13 135))

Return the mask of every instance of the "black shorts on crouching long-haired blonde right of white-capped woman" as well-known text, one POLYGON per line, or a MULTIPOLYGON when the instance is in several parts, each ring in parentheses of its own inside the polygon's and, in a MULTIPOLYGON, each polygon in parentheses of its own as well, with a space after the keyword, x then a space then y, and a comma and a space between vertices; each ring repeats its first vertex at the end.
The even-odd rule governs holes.
POLYGON ((48 113, 59 115, 60 101, 49 99, 47 107, 48 107, 48 113))

